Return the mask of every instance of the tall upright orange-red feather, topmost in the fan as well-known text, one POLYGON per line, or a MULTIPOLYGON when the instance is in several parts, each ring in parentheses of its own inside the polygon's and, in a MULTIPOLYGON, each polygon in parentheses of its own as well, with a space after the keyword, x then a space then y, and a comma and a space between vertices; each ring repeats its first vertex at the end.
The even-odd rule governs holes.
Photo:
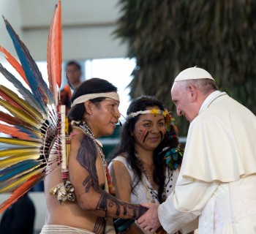
POLYGON ((57 86, 61 87, 61 48, 61 1, 59 0, 50 23, 47 48, 48 80, 56 105, 58 104, 57 86))

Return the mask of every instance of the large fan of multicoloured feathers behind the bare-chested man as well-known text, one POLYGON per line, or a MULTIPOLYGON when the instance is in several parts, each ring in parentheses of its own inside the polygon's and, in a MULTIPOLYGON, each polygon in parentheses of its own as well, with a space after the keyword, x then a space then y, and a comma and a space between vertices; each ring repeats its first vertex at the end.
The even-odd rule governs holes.
POLYGON ((12 136, 0 137, 0 143, 11 145, 0 151, 0 193, 12 192, 0 205, 0 213, 50 173, 54 169, 50 165, 56 165, 53 162, 62 164, 65 180, 67 160, 62 155, 68 152, 65 110, 59 107, 58 97, 62 62, 61 0, 53 12, 48 36, 49 88, 26 45, 6 19, 4 23, 20 62, 1 46, 0 51, 29 88, 0 64, 2 75, 18 90, 17 94, 0 85, 0 105, 6 110, 0 111, 0 132, 12 136), (54 156, 49 159, 50 154, 54 156))

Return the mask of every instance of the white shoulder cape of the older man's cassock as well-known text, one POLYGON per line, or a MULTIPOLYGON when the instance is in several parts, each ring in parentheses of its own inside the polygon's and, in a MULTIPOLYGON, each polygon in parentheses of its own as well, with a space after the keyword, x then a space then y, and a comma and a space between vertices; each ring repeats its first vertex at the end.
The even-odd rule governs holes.
POLYGON ((256 117, 220 93, 189 126, 181 181, 236 181, 256 173, 256 117))

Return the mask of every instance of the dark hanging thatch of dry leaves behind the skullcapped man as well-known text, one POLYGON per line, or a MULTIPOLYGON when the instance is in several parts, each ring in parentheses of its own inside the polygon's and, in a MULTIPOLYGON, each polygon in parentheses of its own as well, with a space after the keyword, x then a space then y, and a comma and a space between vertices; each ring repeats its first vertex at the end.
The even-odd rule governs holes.
MULTIPOLYGON (((132 98, 154 95, 175 113, 173 80, 197 66, 256 113, 255 0, 121 0, 120 6, 114 33, 127 42, 127 56, 137 59, 132 98)), ((181 121, 180 135, 186 135, 188 124, 181 121)))

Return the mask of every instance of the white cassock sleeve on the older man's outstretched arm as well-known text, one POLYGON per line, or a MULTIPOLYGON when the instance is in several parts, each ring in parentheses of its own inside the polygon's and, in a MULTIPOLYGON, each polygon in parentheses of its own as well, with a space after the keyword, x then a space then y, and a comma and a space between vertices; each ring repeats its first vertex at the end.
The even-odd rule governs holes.
POLYGON ((194 180, 177 185, 165 203, 159 205, 158 216, 167 233, 189 233, 197 228, 197 216, 214 194, 219 183, 194 180))

